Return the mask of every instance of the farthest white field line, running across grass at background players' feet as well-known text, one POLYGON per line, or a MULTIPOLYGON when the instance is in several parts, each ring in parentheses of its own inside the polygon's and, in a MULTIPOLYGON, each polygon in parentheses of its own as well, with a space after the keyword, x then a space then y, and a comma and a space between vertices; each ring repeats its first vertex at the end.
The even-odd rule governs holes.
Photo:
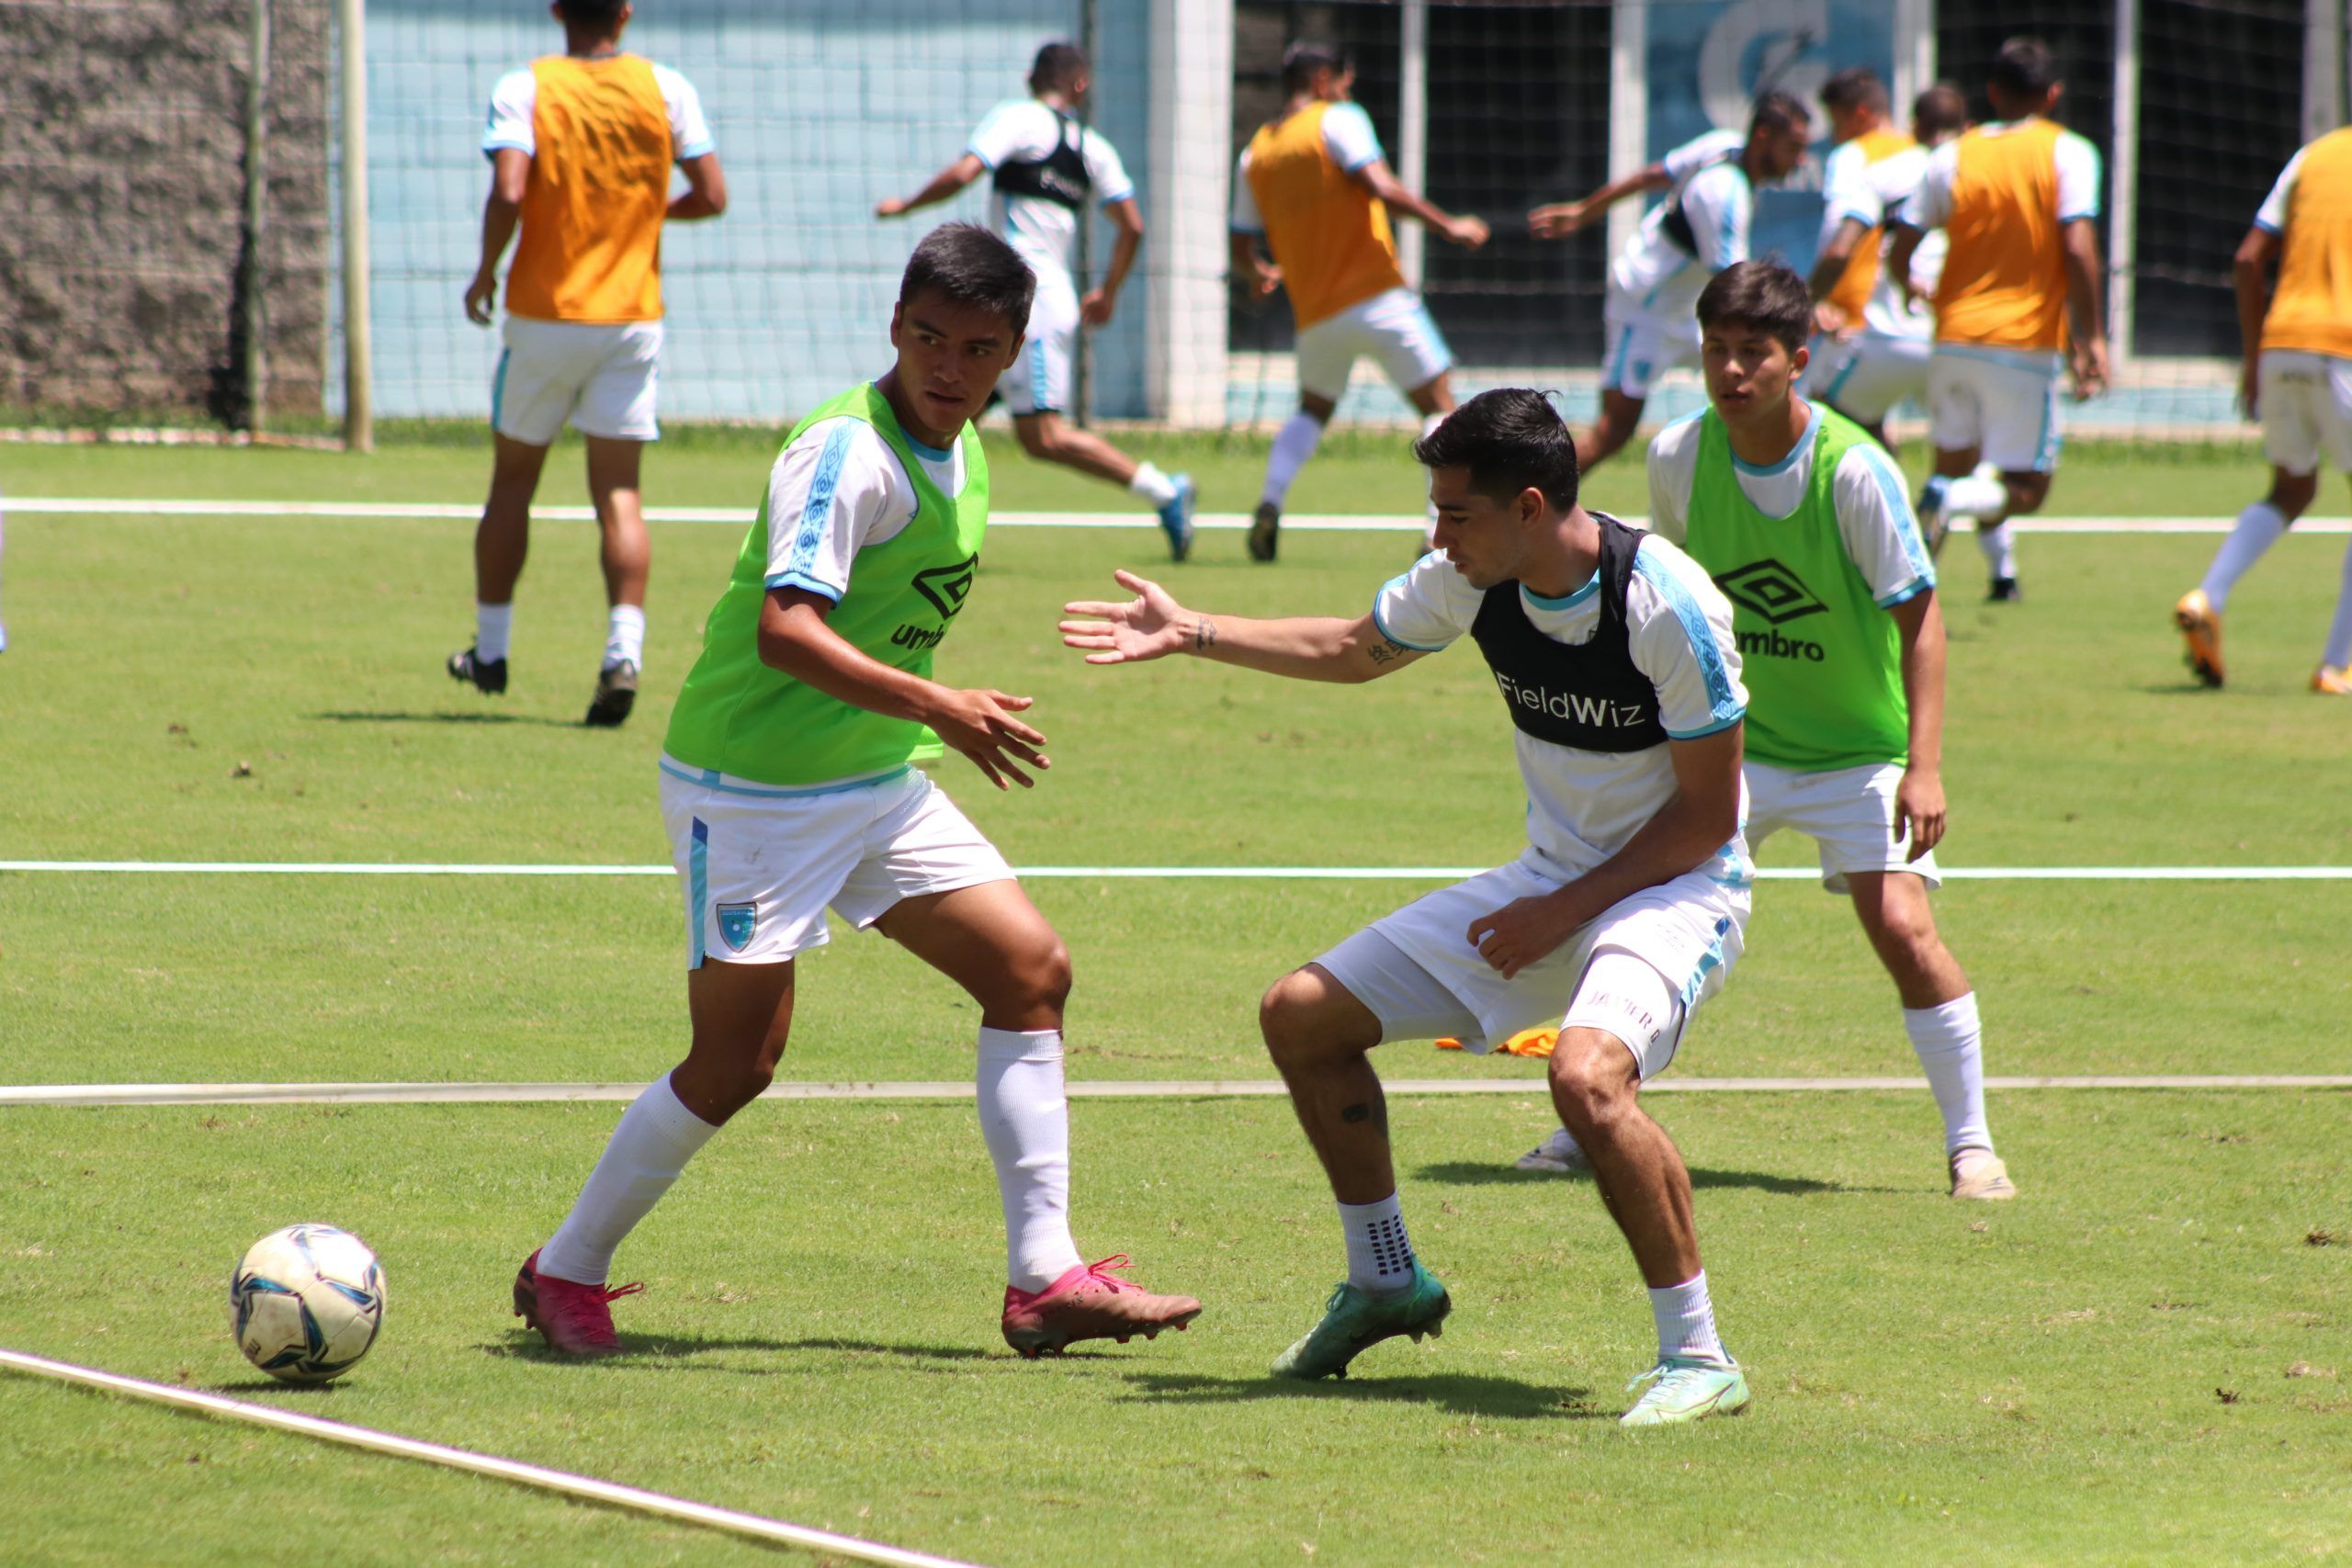
MULTIPOLYGON (((19 515, 49 517, 308 517, 308 520, 452 520, 470 522, 482 515, 477 503, 440 501, 169 501, 169 498, 92 498, 92 496, 9 496, 7 510, 19 515)), ((590 522, 595 512, 586 505, 536 505, 534 517, 548 522, 590 522)), ((746 505, 649 505, 649 522, 720 522, 746 527, 757 515, 746 505)), ((1628 517, 1628 522, 1642 522, 1628 517)), ((2237 517, 2018 517, 2011 527, 2020 534, 2227 534, 2237 517)), ((993 529, 1145 529, 1157 531, 1160 520, 1150 512, 993 512, 993 529)), ((1197 529, 1237 531, 1249 527, 1242 512, 1200 512, 1197 529)), ((1425 520, 1411 515, 1352 515, 1352 512, 1294 512, 1282 520, 1284 529, 1310 534, 1418 534, 1425 520)), ((1955 531, 1971 524, 1957 520, 1955 531)), ((2352 520, 2310 517, 2296 524, 2298 534, 2352 534, 2352 520)))

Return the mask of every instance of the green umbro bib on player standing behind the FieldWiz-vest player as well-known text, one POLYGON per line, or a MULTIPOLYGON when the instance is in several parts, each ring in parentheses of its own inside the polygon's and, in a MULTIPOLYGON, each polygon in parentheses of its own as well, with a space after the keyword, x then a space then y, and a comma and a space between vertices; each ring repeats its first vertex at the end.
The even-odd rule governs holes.
POLYGON ((1748 755, 1799 773, 1910 755, 1903 639, 1837 529, 1837 463, 1870 435, 1813 407, 1813 473, 1788 517, 1766 517, 1748 498, 1724 421, 1700 414, 1682 545, 1731 599, 1748 755))

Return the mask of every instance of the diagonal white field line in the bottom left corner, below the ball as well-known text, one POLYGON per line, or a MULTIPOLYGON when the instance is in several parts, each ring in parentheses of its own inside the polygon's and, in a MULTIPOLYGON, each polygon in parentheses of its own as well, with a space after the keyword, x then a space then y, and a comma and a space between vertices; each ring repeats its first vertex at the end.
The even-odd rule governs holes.
POLYGON ((54 1382, 71 1382, 106 1394, 122 1394, 127 1399, 146 1399, 151 1403, 193 1410, 195 1415, 209 1415, 214 1420, 245 1422, 249 1427, 275 1427, 278 1432, 292 1432, 322 1443, 386 1453, 395 1460, 419 1460, 421 1465, 440 1465, 442 1469, 463 1469, 477 1476, 492 1476, 496 1481, 513 1481, 515 1486, 532 1486, 543 1493, 576 1497, 581 1502, 600 1502, 633 1514, 659 1514, 661 1519, 677 1519, 708 1530, 724 1530, 750 1540, 800 1547, 802 1552, 814 1552, 818 1556, 847 1556, 861 1563, 891 1563, 896 1568, 971 1568, 957 1559, 931 1556, 929 1552, 903 1552, 898 1547, 858 1540, 856 1535, 835 1535, 833 1530, 811 1530, 807 1526, 783 1523, 781 1519, 736 1514, 734 1509, 715 1509, 708 1502, 687 1502, 684 1497, 649 1493, 637 1486, 595 1481, 590 1476, 543 1469, 520 1460, 501 1460, 468 1448, 445 1448, 442 1443, 423 1443, 412 1436, 350 1427, 339 1420, 320 1420, 318 1415, 296 1415, 294 1410, 280 1410, 278 1406, 252 1403, 247 1399, 226 1399, 200 1389, 179 1389, 165 1382, 122 1378, 89 1366, 73 1366, 71 1361, 28 1356, 19 1349, 0 1349, 0 1371, 24 1373, 26 1378, 49 1378, 54 1382))

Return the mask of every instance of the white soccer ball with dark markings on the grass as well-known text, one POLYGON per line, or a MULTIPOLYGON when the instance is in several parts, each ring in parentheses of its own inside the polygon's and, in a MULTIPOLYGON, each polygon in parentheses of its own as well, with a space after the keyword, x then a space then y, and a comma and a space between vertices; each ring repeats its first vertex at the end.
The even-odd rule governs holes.
POLYGON ((383 1265, 334 1225, 287 1225, 228 1276, 228 1328, 245 1359, 287 1382, 350 1371, 383 1326, 383 1265))

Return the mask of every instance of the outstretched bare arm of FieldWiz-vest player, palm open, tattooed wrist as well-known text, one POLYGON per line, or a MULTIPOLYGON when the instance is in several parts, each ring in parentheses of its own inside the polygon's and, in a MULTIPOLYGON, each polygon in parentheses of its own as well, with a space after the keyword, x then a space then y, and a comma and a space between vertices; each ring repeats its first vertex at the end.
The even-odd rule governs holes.
POLYGON ((1167 588, 1134 571, 1112 574, 1134 599, 1077 599, 1063 607, 1061 639, 1089 665, 1131 665, 1190 654, 1263 675, 1319 682, 1369 682, 1402 670, 1428 649, 1395 642, 1371 616, 1287 616, 1251 621, 1209 616, 1178 604, 1167 588))

